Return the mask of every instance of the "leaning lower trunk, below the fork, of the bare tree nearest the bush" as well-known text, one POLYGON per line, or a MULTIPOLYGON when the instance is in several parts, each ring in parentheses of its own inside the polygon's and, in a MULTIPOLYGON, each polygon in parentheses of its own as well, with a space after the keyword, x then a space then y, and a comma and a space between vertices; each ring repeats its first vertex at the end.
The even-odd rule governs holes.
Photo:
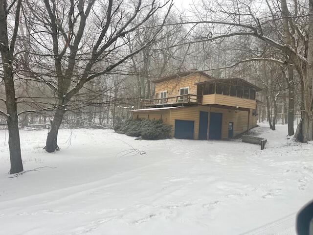
POLYGON ((55 150, 60 150, 57 143, 58 132, 65 112, 66 111, 64 109, 58 109, 54 114, 53 120, 51 122, 51 129, 45 142, 45 151, 47 151, 48 153, 52 153, 55 150))

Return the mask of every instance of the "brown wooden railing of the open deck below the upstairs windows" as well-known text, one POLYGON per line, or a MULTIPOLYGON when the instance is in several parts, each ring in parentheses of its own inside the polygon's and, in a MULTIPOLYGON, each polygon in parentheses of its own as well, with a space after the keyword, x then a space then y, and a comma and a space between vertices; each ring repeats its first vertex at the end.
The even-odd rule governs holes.
POLYGON ((165 98, 157 99, 143 99, 142 106, 154 106, 154 105, 164 105, 164 104, 180 104, 180 103, 201 103, 202 95, 196 94, 183 94, 177 96, 170 96, 165 98))

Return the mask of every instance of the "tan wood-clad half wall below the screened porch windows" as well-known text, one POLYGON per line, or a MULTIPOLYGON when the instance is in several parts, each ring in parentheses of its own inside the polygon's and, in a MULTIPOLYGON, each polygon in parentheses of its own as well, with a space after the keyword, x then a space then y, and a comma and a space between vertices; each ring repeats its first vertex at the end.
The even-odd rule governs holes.
POLYGON ((226 105, 231 107, 240 107, 246 109, 255 109, 256 100, 254 99, 245 99, 239 98, 236 96, 229 96, 223 94, 205 94, 202 97, 202 104, 218 104, 218 105, 226 105))

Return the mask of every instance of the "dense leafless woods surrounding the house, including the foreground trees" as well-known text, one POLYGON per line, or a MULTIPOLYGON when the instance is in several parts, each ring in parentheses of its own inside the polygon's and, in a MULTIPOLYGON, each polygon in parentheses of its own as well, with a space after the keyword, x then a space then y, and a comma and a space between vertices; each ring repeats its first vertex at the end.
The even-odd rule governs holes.
POLYGON ((0 128, 23 170, 19 128, 113 128, 179 71, 243 78, 259 122, 313 140, 313 0, 0 0, 0 128), (294 130, 294 125, 297 129, 294 130))

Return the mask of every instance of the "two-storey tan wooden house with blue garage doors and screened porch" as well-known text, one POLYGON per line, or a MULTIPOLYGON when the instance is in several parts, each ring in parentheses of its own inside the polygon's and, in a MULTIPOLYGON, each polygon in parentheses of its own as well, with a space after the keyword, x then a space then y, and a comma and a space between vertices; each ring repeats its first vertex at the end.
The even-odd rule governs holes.
POLYGON ((133 118, 162 119, 178 139, 231 139, 256 126, 256 92, 244 79, 215 79, 184 71, 153 81, 153 99, 142 100, 133 118))

